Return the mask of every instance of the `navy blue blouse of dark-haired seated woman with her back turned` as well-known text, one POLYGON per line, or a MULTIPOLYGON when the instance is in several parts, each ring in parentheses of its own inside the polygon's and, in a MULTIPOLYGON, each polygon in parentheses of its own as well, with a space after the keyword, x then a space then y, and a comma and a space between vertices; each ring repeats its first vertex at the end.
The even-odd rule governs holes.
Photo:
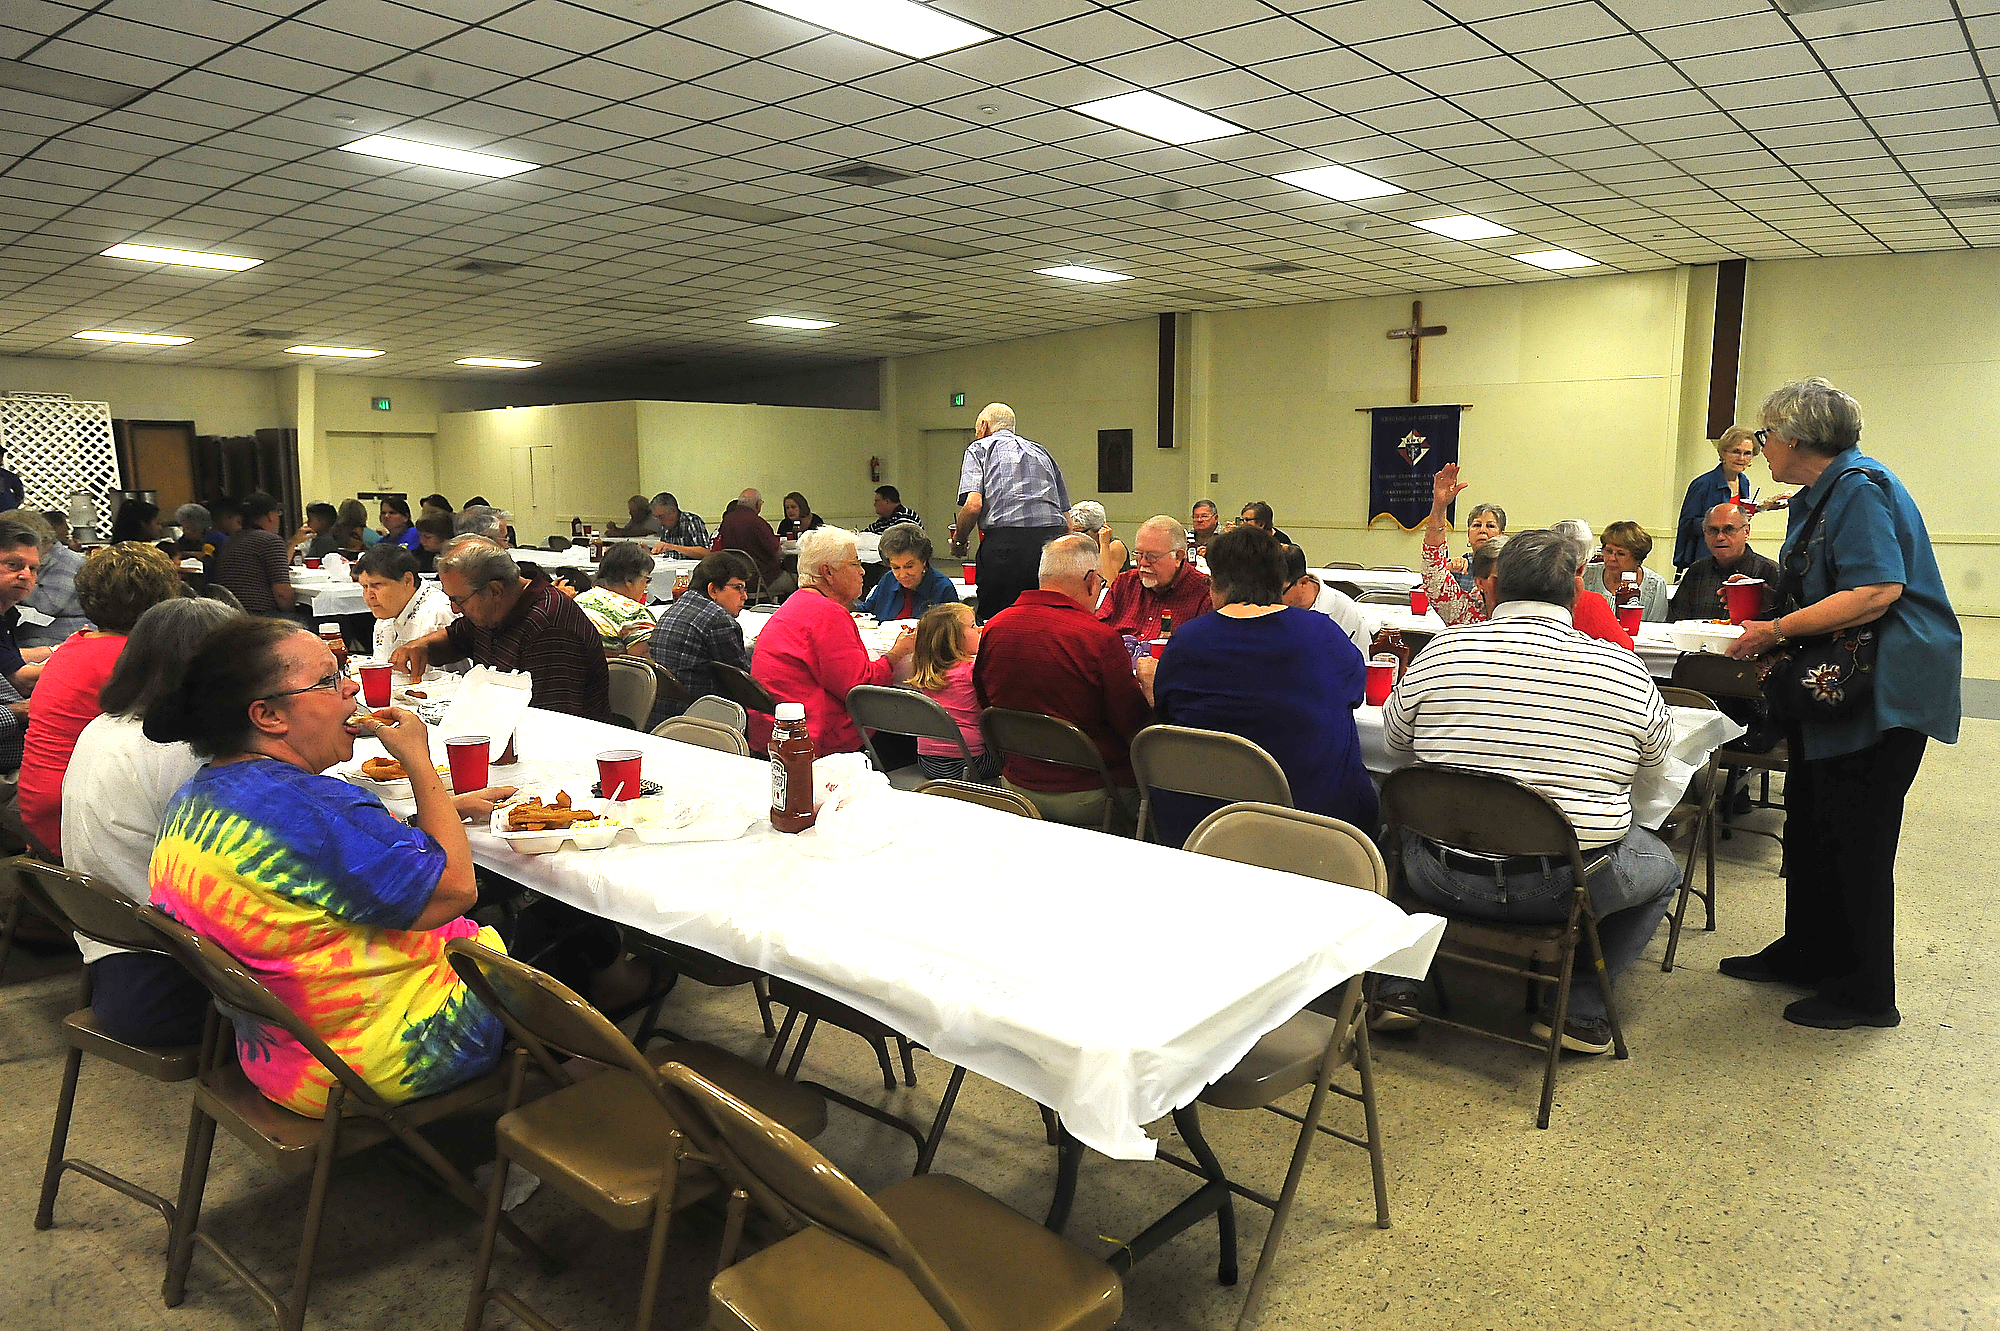
MULTIPOLYGON (((1376 789, 1354 707, 1366 667, 1338 624, 1286 608, 1254 620, 1198 616, 1174 630, 1154 677, 1154 715, 1260 745, 1292 785, 1292 805, 1376 831, 1376 789)), ((1158 791, 1162 845, 1180 845, 1220 799, 1158 791)))

